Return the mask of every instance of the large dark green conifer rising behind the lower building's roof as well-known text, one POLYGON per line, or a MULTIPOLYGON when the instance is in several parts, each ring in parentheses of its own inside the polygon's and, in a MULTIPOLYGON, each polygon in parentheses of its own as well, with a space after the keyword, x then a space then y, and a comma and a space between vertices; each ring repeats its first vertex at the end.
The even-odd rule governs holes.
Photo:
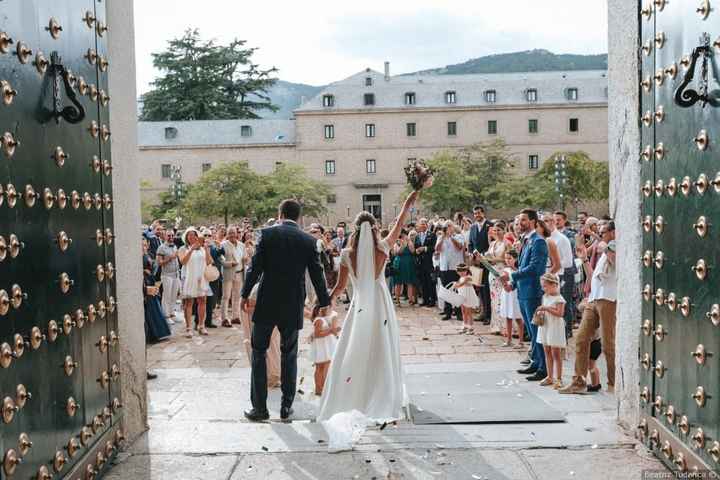
POLYGON ((144 121, 223 120, 259 118, 261 110, 277 110, 268 89, 277 81, 277 69, 263 70, 252 62, 257 48, 245 40, 228 45, 202 40, 198 30, 187 30, 153 53, 153 65, 163 75, 142 96, 144 121))

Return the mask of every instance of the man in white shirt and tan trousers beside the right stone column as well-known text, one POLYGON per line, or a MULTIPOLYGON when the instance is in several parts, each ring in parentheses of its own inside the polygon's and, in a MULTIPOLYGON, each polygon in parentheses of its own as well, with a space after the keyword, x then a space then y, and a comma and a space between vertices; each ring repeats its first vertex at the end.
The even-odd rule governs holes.
POLYGON ((608 390, 615 388, 615 307, 617 304, 617 271, 615 268, 615 223, 603 225, 600 231, 603 241, 607 241, 605 253, 598 260, 595 269, 590 266, 587 257, 583 258, 583 268, 591 278, 588 306, 583 310, 582 321, 575 339, 575 375, 570 385, 559 390, 560 393, 586 393, 587 374, 590 360, 590 343, 600 328, 602 350, 607 363, 608 390))

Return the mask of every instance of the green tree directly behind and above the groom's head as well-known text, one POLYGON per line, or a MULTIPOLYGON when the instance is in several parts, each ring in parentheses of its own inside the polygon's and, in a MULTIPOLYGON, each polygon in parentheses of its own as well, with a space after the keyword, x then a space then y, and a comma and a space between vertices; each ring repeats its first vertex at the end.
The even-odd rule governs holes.
POLYGON ((263 180, 263 198, 254 212, 260 221, 277 216, 278 205, 288 198, 300 201, 304 215, 319 217, 327 211, 330 187, 310 178, 301 166, 280 164, 263 180))

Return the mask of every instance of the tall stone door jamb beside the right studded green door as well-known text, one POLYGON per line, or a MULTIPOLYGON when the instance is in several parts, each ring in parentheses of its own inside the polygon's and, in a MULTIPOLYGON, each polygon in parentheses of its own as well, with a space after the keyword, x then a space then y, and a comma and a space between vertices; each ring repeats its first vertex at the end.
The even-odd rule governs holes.
POLYGON ((637 1, 608 0, 608 142, 610 212, 618 242, 616 398, 625 427, 639 415, 641 325, 639 10, 637 1))

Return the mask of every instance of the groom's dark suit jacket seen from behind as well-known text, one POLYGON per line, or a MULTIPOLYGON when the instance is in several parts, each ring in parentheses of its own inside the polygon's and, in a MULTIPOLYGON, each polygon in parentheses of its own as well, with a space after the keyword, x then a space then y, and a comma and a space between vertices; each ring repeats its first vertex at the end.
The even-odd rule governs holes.
POLYGON ((252 321, 301 330, 306 270, 310 273, 320 306, 328 306, 330 296, 320 265, 317 240, 303 232, 295 222, 263 229, 242 290, 242 297, 248 298, 260 281, 252 321))

